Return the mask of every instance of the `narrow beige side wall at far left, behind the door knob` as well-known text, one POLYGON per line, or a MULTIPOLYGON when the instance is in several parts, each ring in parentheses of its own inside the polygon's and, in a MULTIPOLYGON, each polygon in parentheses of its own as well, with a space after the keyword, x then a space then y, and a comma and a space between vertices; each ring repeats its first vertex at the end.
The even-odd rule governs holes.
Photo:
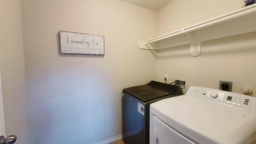
POLYGON ((6 136, 28 144, 28 114, 20 1, 1 3, 1 79, 6 136))

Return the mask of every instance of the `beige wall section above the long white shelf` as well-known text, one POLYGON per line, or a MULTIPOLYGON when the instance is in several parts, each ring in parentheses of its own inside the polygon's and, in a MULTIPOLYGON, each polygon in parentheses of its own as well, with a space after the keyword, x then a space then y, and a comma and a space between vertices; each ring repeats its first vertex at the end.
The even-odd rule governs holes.
POLYGON ((240 0, 174 0, 158 11, 158 36, 242 8, 240 0))

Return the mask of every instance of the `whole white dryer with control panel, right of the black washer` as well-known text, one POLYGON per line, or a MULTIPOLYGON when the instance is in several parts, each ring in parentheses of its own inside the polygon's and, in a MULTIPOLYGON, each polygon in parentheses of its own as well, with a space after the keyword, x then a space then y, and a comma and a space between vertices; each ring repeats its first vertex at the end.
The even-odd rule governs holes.
POLYGON ((256 144, 256 98, 191 86, 150 105, 150 144, 256 144))

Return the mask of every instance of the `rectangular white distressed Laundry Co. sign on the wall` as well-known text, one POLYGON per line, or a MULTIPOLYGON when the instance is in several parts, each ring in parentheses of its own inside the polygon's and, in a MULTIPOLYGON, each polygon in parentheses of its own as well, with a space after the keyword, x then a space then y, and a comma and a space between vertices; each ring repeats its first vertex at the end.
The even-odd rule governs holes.
POLYGON ((60 31, 60 53, 104 55, 104 36, 60 31))

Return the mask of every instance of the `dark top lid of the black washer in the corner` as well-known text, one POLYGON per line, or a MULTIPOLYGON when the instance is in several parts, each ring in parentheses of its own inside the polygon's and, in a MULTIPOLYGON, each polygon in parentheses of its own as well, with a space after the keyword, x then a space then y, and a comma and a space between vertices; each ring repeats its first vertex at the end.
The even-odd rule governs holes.
POLYGON ((156 81, 151 81, 146 85, 124 88, 124 91, 131 94, 135 98, 138 98, 142 102, 148 102, 150 100, 174 94, 183 94, 181 88, 178 86, 156 81))

